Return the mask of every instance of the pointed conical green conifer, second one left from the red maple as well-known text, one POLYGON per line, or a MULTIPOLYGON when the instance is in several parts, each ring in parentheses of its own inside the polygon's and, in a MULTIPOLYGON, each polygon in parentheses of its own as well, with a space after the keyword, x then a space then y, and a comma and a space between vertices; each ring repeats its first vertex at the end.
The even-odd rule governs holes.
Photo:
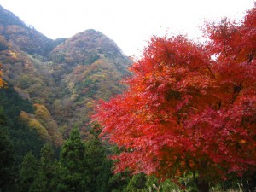
POLYGON ((58 186, 60 191, 89 191, 84 150, 79 130, 74 128, 61 148, 61 182, 58 186))

